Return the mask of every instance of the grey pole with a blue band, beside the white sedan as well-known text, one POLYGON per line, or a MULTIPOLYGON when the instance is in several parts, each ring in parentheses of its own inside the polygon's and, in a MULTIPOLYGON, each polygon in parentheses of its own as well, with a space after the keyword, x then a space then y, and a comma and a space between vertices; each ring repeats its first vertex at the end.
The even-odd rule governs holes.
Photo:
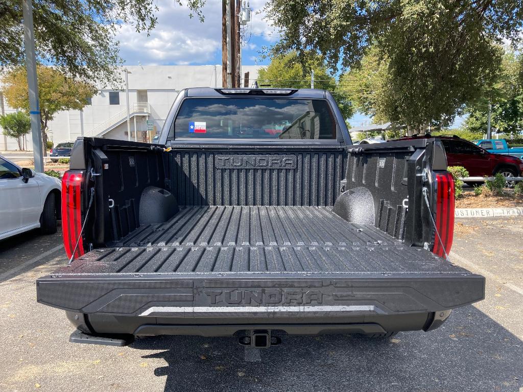
MULTIPOLYGON (((32 20, 32 1, 22 0, 24 17, 24 43, 26 47, 27 86, 29 87, 29 114, 33 141, 35 170, 43 172, 43 143, 40 128, 40 103, 38 101, 38 79, 36 76, 35 31, 32 20)), ((47 148, 47 146, 46 146, 47 148)))

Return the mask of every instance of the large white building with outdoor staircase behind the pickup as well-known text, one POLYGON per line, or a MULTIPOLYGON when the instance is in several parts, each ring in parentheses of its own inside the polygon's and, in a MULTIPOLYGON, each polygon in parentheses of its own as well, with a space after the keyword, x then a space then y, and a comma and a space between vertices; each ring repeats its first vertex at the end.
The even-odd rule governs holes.
MULTIPOLYGON (((150 142, 160 133, 167 113, 178 92, 187 87, 222 87, 221 65, 126 66, 129 71, 129 111, 131 140, 150 142)), ((122 68, 122 79, 124 69, 122 68)), ((258 76, 260 66, 242 66, 249 72, 249 84, 258 76)), ((2 86, 0 85, 0 90, 2 86)), ((49 123, 48 138, 54 145, 74 141, 78 136, 99 136, 127 140, 127 101, 125 90, 101 89, 83 110, 56 113, 49 123)), ((0 93, 0 114, 13 112, 0 93)), ((31 135, 26 148, 32 149, 31 135)), ((0 151, 18 149, 18 143, 2 134, 0 151)))

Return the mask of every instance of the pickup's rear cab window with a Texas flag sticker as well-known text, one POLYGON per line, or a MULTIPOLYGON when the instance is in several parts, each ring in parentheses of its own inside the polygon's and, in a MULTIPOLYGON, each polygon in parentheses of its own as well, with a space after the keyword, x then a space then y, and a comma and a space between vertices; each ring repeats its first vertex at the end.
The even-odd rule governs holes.
POLYGON ((169 135, 179 138, 332 140, 336 122, 321 99, 191 98, 169 135))

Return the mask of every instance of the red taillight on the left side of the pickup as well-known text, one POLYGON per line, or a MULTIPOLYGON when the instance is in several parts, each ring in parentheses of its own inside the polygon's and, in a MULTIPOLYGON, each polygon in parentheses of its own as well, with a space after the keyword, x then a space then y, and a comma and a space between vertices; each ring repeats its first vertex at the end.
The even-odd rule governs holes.
MULTIPOLYGON (((76 241, 82 230, 82 203, 80 190, 84 172, 67 170, 62 177, 62 232, 64 248, 68 258, 73 255, 76 241)), ((80 239, 74 258, 85 253, 83 240, 80 239)))

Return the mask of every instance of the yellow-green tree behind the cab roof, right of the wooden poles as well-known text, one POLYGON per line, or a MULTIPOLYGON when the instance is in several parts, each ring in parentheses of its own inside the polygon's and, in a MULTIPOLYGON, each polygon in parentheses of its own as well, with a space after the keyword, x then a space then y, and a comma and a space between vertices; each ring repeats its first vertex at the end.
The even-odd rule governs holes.
POLYGON ((304 62, 299 60, 294 51, 276 56, 269 65, 258 71, 258 84, 270 87, 310 88, 311 70, 314 70, 314 88, 331 91, 344 118, 353 117, 353 106, 347 99, 347 94, 328 72, 321 56, 310 55, 304 62))

